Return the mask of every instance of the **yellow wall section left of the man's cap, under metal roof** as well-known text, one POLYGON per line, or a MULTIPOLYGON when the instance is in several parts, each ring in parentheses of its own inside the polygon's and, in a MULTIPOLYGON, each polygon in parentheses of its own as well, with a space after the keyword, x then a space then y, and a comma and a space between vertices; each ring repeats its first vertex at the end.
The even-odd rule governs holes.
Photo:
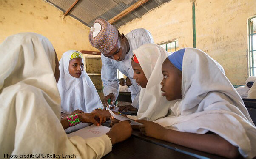
POLYGON ((43 0, 0 0, 0 43, 20 32, 35 32, 46 36, 58 58, 69 50, 94 50, 88 40, 89 28, 66 16, 63 11, 43 0))

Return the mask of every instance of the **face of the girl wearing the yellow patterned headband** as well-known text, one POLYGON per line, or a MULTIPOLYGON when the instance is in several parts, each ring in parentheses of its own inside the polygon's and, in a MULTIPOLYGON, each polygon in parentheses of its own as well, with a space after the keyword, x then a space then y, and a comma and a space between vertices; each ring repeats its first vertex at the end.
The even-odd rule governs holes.
POLYGON ((79 78, 82 75, 84 63, 82 58, 73 58, 69 61, 68 71, 73 77, 79 78))

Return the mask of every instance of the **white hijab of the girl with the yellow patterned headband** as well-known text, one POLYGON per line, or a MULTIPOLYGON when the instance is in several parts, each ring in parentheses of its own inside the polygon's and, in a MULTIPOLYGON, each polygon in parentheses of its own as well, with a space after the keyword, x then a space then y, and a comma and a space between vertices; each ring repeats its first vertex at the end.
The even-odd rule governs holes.
POLYGON ((104 108, 94 84, 85 71, 80 78, 69 74, 69 60, 74 51, 76 50, 66 51, 60 59, 58 89, 61 97, 61 112, 70 114, 79 109, 90 113, 94 109, 104 108))

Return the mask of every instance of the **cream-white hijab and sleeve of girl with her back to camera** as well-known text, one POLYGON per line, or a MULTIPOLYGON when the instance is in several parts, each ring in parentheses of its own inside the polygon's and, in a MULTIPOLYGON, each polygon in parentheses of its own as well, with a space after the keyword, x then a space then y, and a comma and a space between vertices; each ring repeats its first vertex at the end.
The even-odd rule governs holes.
POLYGON ((68 138, 64 132, 54 78, 55 51, 47 38, 36 33, 9 36, 0 44, 0 56, 1 157, 74 154, 99 159, 111 151, 107 135, 68 138))

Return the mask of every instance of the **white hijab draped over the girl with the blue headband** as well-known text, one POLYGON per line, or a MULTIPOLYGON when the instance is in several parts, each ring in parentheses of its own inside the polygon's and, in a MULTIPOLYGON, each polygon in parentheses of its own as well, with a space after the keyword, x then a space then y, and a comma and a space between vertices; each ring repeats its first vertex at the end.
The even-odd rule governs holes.
POLYGON ((245 158, 256 156, 256 128, 243 101, 219 63, 199 49, 186 48, 182 66, 182 99, 172 114, 154 121, 168 129, 214 132, 239 147, 245 158))

